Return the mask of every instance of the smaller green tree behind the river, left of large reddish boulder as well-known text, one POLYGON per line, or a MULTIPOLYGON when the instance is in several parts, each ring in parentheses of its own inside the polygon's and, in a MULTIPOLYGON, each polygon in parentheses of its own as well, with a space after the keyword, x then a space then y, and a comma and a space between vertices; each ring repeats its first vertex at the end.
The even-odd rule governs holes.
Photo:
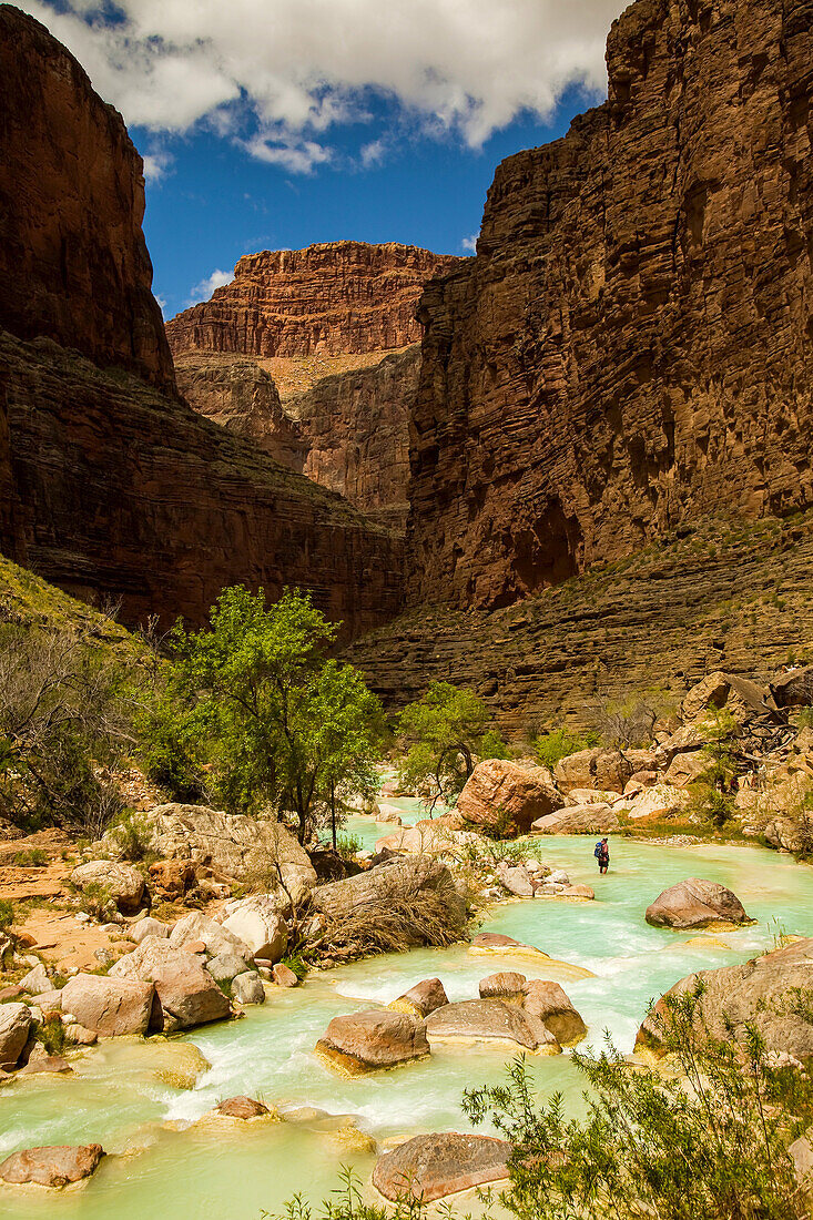
POLYGON ((400 714, 398 733, 406 748, 400 782, 410 789, 431 782, 428 806, 453 805, 475 767, 475 758, 508 758, 491 727, 491 715, 474 691, 432 682, 422 699, 400 714))

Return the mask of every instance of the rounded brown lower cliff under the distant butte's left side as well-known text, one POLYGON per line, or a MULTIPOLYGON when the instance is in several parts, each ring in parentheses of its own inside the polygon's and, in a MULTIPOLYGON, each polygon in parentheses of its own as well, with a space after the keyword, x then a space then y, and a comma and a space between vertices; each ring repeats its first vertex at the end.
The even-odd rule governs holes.
POLYGON ((175 375, 178 389, 195 411, 254 440, 289 470, 302 473, 308 442, 283 410, 273 378, 256 361, 178 356, 175 375))

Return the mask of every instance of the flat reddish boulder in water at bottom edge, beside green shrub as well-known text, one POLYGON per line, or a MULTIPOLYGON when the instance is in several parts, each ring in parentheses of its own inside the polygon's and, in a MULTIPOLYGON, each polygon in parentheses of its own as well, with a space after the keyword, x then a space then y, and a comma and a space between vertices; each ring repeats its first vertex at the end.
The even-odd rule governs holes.
POLYGON ((372 1185, 392 1202, 413 1194, 432 1203, 474 1186, 503 1181, 510 1154, 509 1143, 490 1136, 454 1131, 415 1136, 378 1159, 372 1185))

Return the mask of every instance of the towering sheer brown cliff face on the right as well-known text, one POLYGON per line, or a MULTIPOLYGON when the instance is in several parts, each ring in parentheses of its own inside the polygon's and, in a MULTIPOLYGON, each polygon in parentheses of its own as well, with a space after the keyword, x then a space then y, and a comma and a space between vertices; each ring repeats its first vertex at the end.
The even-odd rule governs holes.
POLYGON ((504 606, 813 501, 813 0, 637 0, 609 100, 426 289, 413 603, 504 606))

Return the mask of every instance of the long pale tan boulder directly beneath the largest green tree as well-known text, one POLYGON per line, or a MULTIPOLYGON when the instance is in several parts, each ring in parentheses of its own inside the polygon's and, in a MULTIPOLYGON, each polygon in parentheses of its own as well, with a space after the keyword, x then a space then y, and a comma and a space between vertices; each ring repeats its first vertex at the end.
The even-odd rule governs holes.
MULTIPOLYGON (((295 837, 280 822, 225 814, 205 805, 156 805, 139 814, 149 848, 164 860, 190 860, 236 881, 273 877, 316 884, 316 874, 295 837)), ((116 850, 115 833, 105 845, 116 850)))

